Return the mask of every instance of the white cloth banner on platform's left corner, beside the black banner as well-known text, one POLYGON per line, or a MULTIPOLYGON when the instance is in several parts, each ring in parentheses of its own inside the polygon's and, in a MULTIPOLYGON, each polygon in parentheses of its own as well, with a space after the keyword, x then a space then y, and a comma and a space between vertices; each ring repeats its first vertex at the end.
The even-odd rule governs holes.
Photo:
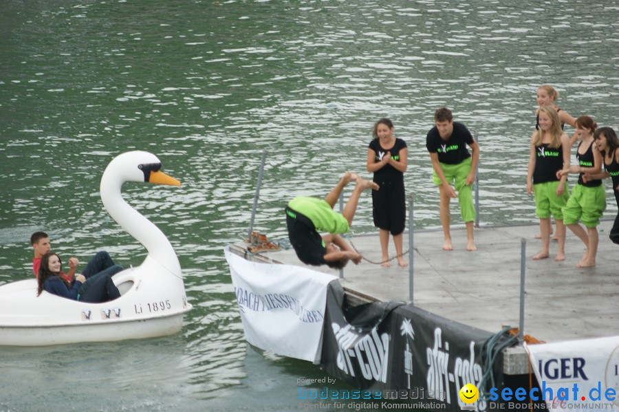
POLYGON ((281 356, 318 363, 331 274, 257 263, 224 248, 246 340, 281 356))

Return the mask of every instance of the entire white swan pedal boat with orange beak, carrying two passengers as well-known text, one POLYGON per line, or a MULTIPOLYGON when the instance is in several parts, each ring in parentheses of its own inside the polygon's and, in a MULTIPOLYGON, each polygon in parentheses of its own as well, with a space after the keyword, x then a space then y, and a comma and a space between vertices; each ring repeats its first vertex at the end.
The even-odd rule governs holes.
POLYGON ((166 336, 180 331, 187 302, 180 263, 157 226, 122 199, 124 182, 179 186, 145 151, 122 153, 101 178, 109 215, 148 250, 141 265, 115 274, 120 298, 105 303, 72 301, 43 291, 32 279, 0 285, 0 345, 43 346, 166 336))

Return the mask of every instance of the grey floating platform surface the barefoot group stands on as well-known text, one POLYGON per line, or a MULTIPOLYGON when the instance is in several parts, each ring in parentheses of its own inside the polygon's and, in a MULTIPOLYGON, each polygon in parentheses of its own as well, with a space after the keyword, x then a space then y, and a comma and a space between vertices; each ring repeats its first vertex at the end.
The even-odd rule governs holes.
MULTIPOLYGON (((576 268, 583 243, 567 232, 565 261, 554 261, 557 242, 551 241, 549 259, 532 260, 541 250, 534 239, 539 225, 496 226, 475 229, 477 251, 466 251, 466 230, 452 228, 455 250, 442 250, 442 230, 413 232, 413 250, 406 255, 413 265, 413 303, 428 312, 496 333, 502 325, 519 326, 521 239, 526 239, 524 333, 539 340, 557 342, 619 335, 619 246, 608 239, 613 221, 602 221, 595 268, 576 268)), ((378 232, 349 237, 369 261, 380 261, 378 232)), ((404 250, 409 250, 404 233, 404 250)), ((390 256, 395 256, 393 241, 390 256)), ((292 248, 264 252, 261 257, 279 263, 303 265, 292 248)), ((307 266, 338 277, 326 266, 307 266)), ((410 301, 409 268, 362 261, 349 263, 340 282, 352 294, 377 301, 410 301)), ((514 356, 506 373, 527 366, 521 348, 508 349, 514 356), (521 367, 517 367, 519 364, 521 367), (508 370, 510 369, 510 370, 508 370)), ((509 357, 509 356, 508 356, 509 357)), ((506 364, 510 360, 506 359, 506 364)))

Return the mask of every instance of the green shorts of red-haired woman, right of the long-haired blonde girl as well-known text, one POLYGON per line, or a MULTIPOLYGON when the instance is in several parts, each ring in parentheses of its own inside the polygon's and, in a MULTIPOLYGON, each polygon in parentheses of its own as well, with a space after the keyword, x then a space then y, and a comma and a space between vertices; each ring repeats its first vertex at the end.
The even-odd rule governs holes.
POLYGON ((583 222, 587 228, 595 228, 600 224, 600 217, 606 210, 606 191, 604 186, 587 187, 577 184, 572 188, 572 197, 569 197, 563 208, 563 224, 571 225, 583 222))

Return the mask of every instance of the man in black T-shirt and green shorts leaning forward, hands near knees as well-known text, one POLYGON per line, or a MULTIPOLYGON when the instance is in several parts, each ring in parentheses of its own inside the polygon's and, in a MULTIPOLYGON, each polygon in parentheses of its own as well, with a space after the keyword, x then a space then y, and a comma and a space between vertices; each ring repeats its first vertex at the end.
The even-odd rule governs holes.
POLYGON ((460 213, 466 224, 466 250, 477 250, 473 237, 475 206, 471 185, 475 182, 479 145, 464 124, 453 121, 453 114, 448 108, 437 109, 434 122, 435 127, 426 136, 426 149, 432 161, 432 180, 439 188, 441 224, 445 237, 443 250, 453 250, 449 203, 455 197, 458 198, 460 213), (466 148, 467 144, 473 154, 466 148))

